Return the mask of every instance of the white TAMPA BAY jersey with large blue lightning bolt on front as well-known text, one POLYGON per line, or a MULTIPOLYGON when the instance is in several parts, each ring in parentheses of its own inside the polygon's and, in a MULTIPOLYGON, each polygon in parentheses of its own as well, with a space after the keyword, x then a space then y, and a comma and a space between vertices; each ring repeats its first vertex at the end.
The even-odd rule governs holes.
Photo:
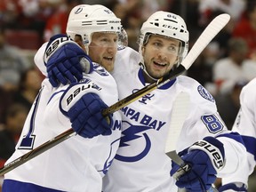
MULTIPOLYGON (((140 55, 130 48, 118 52, 112 76, 116 79, 119 97, 123 99, 145 85, 139 66, 140 55)), ((219 177, 236 170, 245 154, 244 146, 221 120, 212 95, 196 80, 178 76, 170 83, 121 109, 122 137, 115 159, 103 178, 104 192, 176 192, 170 176, 171 159, 164 154, 167 132, 171 129, 172 103, 179 92, 188 92, 190 108, 180 132, 177 151, 188 148, 206 136, 224 143, 226 164, 219 177), (225 135, 225 136, 224 136, 225 135), (234 137, 236 138, 236 137, 234 137)))

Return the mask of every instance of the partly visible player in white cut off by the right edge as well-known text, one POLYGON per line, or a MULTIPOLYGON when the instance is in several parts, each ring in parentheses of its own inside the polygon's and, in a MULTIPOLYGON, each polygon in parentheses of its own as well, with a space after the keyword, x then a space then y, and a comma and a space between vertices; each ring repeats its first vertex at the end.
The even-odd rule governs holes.
POLYGON ((236 116, 232 130, 239 132, 247 149, 247 164, 239 167, 239 170, 228 178, 222 179, 220 191, 247 191, 248 177, 252 174, 256 165, 256 78, 246 84, 240 94, 241 108, 236 116))

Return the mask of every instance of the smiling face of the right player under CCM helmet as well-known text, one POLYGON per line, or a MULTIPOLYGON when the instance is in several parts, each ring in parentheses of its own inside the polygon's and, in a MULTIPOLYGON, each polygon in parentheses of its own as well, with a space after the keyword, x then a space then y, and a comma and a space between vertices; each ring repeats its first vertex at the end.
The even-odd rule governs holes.
POLYGON ((142 56, 148 74, 156 79, 167 74, 177 63, 180 41, 164 36, 151 35, 142 47, 142 56))

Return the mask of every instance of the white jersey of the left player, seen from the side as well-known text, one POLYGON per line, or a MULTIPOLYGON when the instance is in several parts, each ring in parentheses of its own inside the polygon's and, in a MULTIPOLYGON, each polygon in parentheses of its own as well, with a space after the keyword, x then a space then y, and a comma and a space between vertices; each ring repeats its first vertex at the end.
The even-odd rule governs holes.
MULTIPOLYGON (((71 123, 68 117, 61 113, 60 108, 67 108, 67 98, 70 103, 76 102, 86 92, 96 92, 108 106, 118 101, 114 78, 98 65, 94 65, 92 74, 84 75, 79 84, 56 89, 52 88, 47 78, 44 79, 42 89, 24 124, 16 151, 6 164, 70 129, 71 123)), ((102 177, 116 154, 121 135, 119 112, 114 113, 113 118, 111 135, 92 139, 75 135, 7 172, 4 182, 17 182, 15 181, 16 185, 11 186, 12 188, 9 188, 9 185, 4 191, 28 192, 39 191, 39 188, 42 192, 101 191, 102 177)))

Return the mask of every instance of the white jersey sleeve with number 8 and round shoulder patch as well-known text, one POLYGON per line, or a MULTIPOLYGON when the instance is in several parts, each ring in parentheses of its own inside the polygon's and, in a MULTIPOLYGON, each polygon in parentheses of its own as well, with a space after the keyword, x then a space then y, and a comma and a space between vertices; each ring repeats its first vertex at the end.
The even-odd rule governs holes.
POLYGON ((243 140, 237 132, 230 132, 226 124, 223 122, 218 113, 216 102, 211 93, 208 92, 204 86, 198 83, 187 85, 188 92, 190 92, 191 110, 184 123, 185 129, 182 129, 180 135, 184 143, 202 140, 204 137, 212 136, 220 140, 224 145, 225 150, 225 166, 218 177, 227 177, 229 174, 236 172, 241 164, 244 164, 244 156, 246 150, 244 148, 243 140))

